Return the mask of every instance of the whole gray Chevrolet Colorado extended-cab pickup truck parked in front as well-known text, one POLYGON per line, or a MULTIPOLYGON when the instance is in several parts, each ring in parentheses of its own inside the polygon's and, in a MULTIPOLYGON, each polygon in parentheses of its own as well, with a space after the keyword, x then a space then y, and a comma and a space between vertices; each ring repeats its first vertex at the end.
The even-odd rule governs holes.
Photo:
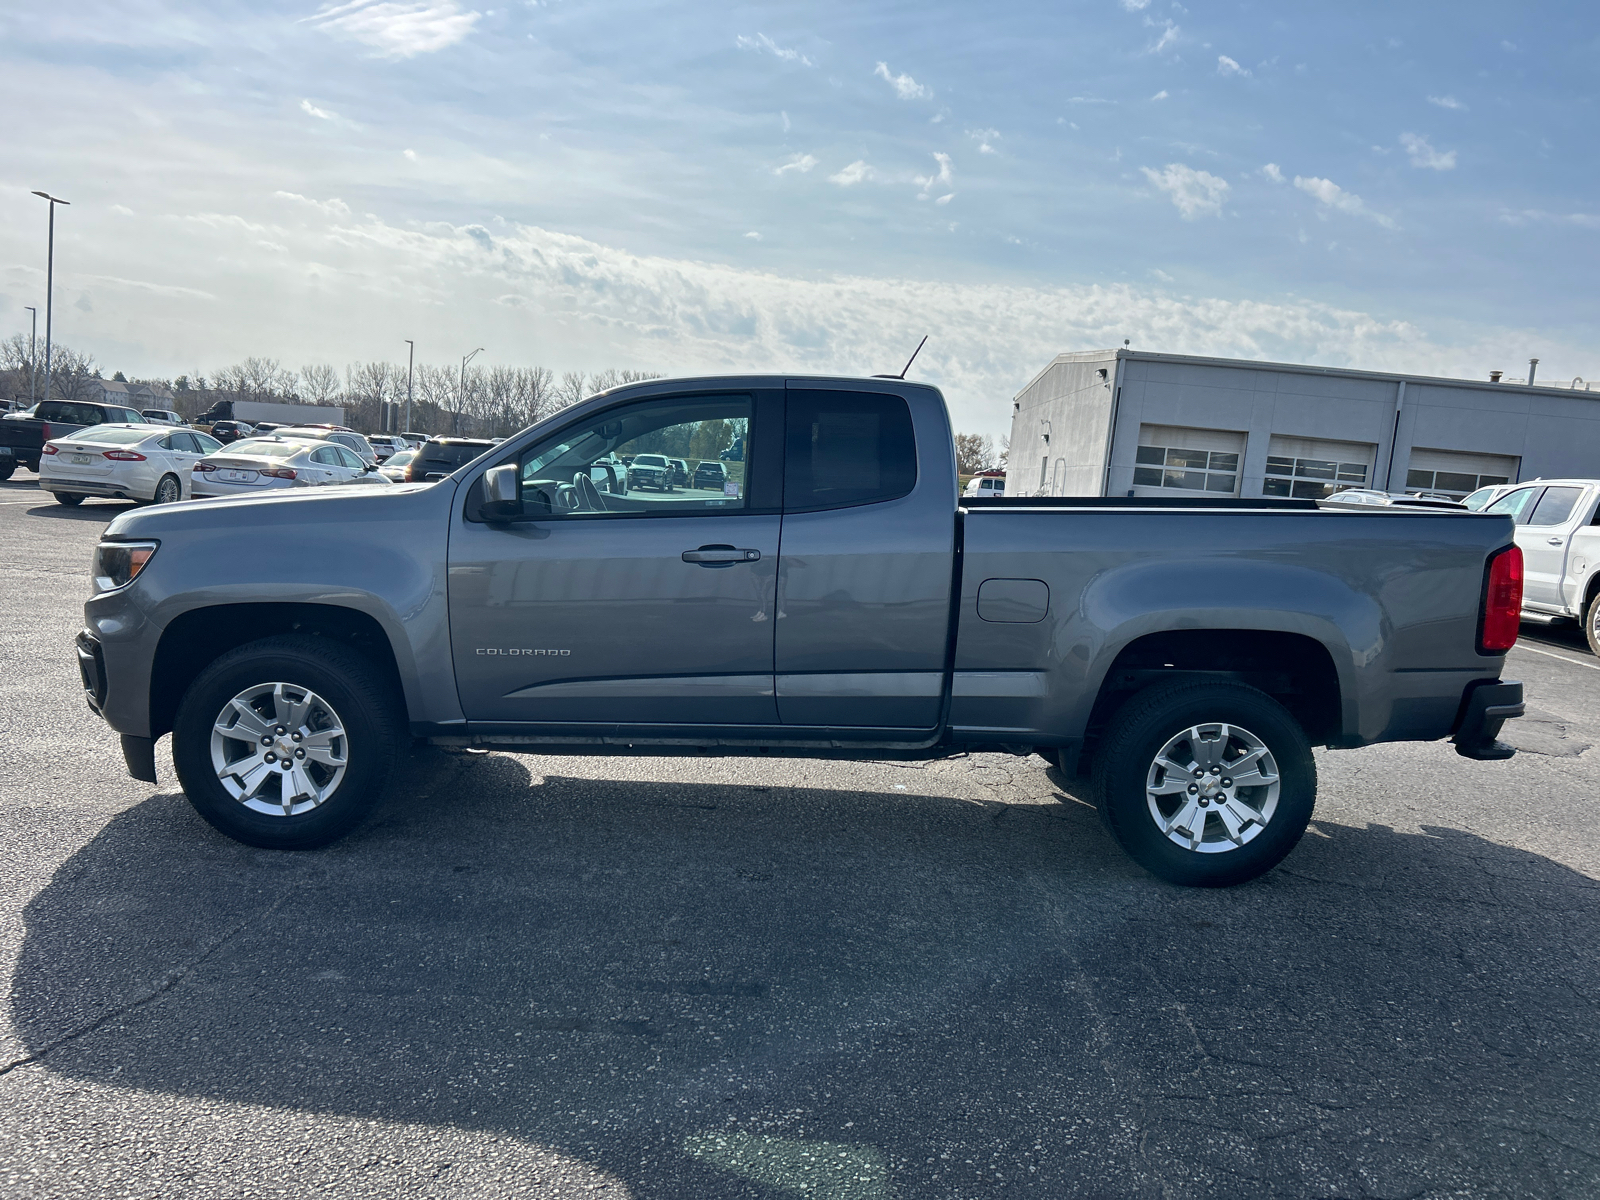
MULTIPOLYGON (((1150 872, 1227 885, 1312 814, 1312 746, 1504 758, 1504 515, 957 498, 938 390, 621 387, 432 485, 114 520, 77 651, 155 781, 259 846, 352 829, 410 739, 526 754, 938 758, 1088 776, 1150 872), (734 458, 723 458, 738 446, 734 458), (723 462, 640 491, 618 462, 723 462)), ((397 786, 403 786, 398 784, 397 786)))

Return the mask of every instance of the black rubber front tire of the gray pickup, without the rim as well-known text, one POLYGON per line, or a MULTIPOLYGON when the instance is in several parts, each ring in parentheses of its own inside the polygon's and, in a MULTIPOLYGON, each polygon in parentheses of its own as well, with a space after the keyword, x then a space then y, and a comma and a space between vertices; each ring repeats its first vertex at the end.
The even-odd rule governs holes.
POLYGON ((267 850, 315 850, 366 819, 405 742, 405 715, 394 686, 368 659, 326 638, 282 635, 229 651, 189 685, 173 726, 173 763, 189 803, 218 832, 267 850), (266 683, 323 698, 346 734, 338 786, 320 805, 293 816, 246 808, 222 786, 211 760, 219 714, 235 696, 266 683))

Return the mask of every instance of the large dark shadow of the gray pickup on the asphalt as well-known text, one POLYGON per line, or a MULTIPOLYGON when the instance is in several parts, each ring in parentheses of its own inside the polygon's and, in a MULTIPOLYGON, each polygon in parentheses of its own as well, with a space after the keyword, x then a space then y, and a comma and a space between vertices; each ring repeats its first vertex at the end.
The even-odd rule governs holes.
POLYGON ((560 768, 422 754, 320 853, 122 813, 27 906, 29 1058, 512 1136, 638 1197, 1600 1182, 1600 893, 1549 859, 1318 826, 1189 891, 1070 798, 528 765, 560 768))

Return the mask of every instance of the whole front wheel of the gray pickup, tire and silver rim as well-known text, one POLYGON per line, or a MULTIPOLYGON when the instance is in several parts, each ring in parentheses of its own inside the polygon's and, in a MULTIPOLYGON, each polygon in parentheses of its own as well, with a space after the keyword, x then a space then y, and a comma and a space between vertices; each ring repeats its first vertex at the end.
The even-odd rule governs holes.
POLYGON ((251 846, 314 850, 381 798, 403 715, 373 666, 317 637, 269 637, 208 666, 184 693, 173 762, 214 829, 251 846))

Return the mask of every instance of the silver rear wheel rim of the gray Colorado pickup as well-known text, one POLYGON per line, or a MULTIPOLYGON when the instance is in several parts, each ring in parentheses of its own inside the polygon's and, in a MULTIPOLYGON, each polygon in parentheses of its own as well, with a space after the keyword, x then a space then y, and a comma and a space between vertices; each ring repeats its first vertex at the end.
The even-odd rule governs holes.
POLYGON ((1278 786, 1278 765, 1261 738, 1210 722, 1182 730, 1160 749, 1144 794, 1168 842, 1198 854, 1226 854, 1267 827, 1278 786))

